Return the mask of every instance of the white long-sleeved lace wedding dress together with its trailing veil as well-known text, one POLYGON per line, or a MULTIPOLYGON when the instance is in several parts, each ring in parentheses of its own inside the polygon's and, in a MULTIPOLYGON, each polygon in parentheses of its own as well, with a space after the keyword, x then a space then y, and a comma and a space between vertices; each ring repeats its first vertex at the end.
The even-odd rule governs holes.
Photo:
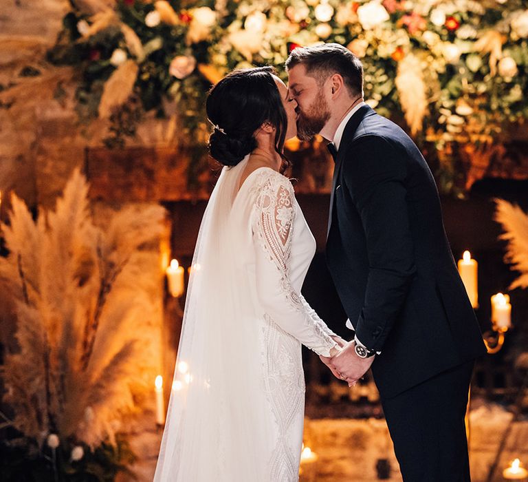
MULTIPOLYGON (((224 252, 233 249, 230 261, 223 264, 229 273, 221 283, 215 283, 223 290, 235 280, 234 288, 222 291, 223 302, 217 303, 218 310, 227 310, 220 315, 224 326, 210 323, 201 332, 215 331, 210 336, 221 346, 211 340, 207 350, 215 350, 214 357, 221 362, 207 363, 206 358, 213 355, 196 355, 196 350, 192 361, 192 350, 186 345, 196 346, 200 339, 196 331, 186 333, 187 319, 179 359, 185 359, 189 366, 209 365, 198 375, 208 387, 192 397, 193 401, 183 390, 173 392, 155 481, 297 481, 305 408, 301 344, 325 356, 337 346, 331 339, 334 333, 300 294, 316 242, 292 184, 273 169, 261 167, 238 190, 247 161, 245 158, 232 169, 224 168, 217 185, 219 192, 217 196, 213 193, 211 201, 217 207, 219 196, 228 197, 230 202, 217 209, 216 227, 209 225, 203 233, 202 224, 199 237, 203 242, 203 236, 214 229, 215 236, 225 243, 216 253, 223 261, 224 252), (186 337, 192 337, 194 343, 186 337), (217 391, 211 395, 213 386, 217 391), (202 420, 205 412, 207 421, 202 420)), ((206 212, 204 218, 208 214, 212 213, 206 212)), ((207 304, 208 296, 202 295, 206 299, 195 300, 196 306, 207 304)), ((214 296, 211 301, 214 304, 214 296)), ((189 302, 192 297, 187 299, 186 310, 189 302)), ((199 308, 191 305, 193 309, 199 308)), ((210 316, 216 317, 213 313, 210 316)), ((184 384, 181 375, 176 370, 175 382, 184 384)), ((188 390, 196 385, 194 378, 188 390)))

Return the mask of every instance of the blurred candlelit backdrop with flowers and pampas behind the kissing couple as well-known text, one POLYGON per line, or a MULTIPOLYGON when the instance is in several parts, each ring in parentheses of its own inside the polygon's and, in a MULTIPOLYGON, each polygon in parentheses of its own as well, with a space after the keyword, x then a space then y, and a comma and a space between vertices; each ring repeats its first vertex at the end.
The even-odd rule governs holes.
MULTIPOLYGON (((468 407, 473 479, 528 480, 527 1, 0 6, 2 480, 152 479, 219 174, 206 94, 237 67, 287 81, 289 52, 329 41, 362 59, 366 101, 437 180, 489 347, 468 407)), ((303 293, 347 337, 324 256, 333 163, 320 138, 287 156, 318 243, 303 293)), ((350 390, 304 358, 301 480, 401 481, 371 378, 350 390)))

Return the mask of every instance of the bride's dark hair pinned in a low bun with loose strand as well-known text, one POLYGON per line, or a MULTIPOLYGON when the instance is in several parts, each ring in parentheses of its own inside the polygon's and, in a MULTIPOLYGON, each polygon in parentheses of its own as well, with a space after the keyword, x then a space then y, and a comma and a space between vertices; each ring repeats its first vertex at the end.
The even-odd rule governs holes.
POLYGON ((254 132, 265 122, 275 128, 275 151, 283 154, 287 116, 273 78, 274 67, 234 70, 209 92, 206 111, 213 130, 208 149, 212 158, 225 166, 237 165, 256 148, 254 132))

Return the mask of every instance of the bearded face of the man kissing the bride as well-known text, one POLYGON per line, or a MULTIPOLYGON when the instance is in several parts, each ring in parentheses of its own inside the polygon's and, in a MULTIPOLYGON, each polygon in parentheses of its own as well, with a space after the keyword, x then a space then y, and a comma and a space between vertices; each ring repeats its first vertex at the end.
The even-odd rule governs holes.
POLYGON ((309 76, 304 65, 298 64, 288 71, 288 94, 290 101, 297 102, 297 137, 310 140, 330 118, 324 85, 309 76))

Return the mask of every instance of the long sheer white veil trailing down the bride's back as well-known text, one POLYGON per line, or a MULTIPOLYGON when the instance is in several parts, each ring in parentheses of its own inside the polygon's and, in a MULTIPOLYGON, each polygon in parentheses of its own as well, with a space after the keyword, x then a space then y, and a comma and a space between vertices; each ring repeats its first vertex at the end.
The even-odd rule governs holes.
POLYGON ((262 348, 236 256, 252 242, 251 206, 232 210, 248 157, 223 168, 201 221, 155 482, 265 480, 262 348))

